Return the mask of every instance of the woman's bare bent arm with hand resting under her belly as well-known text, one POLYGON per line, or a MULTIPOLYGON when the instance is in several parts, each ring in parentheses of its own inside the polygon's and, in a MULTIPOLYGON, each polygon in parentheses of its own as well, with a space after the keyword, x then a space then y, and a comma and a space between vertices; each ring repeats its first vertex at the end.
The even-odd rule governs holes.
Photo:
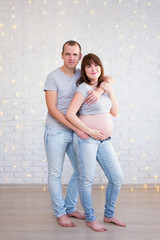
POLYGON ((76 113, 78 112, 78 110, 80 109, 81 105, 84 102, 84 96, 77 92, 66 113, 66 118, 78 129, 80 129, 81 131, 87 133, 89 136, 91 136, 94 139, 99 139, 99 140, 104 140, 105 136, 103 135, 103 133, 97 129, 92 129, 87 127, 87 125, 85 125, 76 115, 76 113))

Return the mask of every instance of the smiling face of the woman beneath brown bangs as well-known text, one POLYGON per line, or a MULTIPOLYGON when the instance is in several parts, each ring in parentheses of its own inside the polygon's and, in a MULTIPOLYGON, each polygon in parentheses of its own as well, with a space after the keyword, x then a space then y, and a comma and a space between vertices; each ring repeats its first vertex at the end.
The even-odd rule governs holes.
POLYGON ((96 63, 91 63, 90 65, 85 66, 85 73, 91 82, 97 82, 101 75, 101 67, 96 63))

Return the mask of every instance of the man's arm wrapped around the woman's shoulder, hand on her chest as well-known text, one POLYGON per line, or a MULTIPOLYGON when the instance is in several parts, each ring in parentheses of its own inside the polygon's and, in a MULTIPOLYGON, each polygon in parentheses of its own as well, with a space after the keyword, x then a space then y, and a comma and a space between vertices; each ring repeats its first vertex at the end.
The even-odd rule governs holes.
MULTIPOLYGON (((112 85, 114 83, 114 79, 109 76, 104 76, 103 83, 112 85)), ((104 93, 104 89, 101 86, 99 86, 96 90, 90 90, 88 92, 88 97, 85 100, 86 103, 87 104, 92 104, 92 103, 96 104, 103 93, 104 93)))

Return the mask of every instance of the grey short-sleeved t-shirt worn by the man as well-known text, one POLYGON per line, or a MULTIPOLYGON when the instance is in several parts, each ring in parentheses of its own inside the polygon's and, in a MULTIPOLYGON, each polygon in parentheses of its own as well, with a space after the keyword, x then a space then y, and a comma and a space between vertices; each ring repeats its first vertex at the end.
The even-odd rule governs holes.
MULTIPOLYGON (((57 108, 66 114, 69 104, 76 92, 76 81, 81 76, 80 69, 77 69, 74 76, 64 74, 59 68, 51 72, 45 82, 44 91, 57 91, 57 108)), ((56 129, 69 130, 68 127, 58 122, 49 113, 47 114, 46 126, 56 129)), ((71 130, 71 129, 70 129, 71 130)))

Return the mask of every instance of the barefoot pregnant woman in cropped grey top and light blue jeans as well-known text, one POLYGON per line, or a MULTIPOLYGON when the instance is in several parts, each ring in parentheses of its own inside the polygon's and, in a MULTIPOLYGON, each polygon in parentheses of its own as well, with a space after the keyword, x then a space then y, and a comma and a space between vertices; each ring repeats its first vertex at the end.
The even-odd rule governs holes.
POLYGON ((74 134, 77 168, 79 174, 79 193, 85 211, 86 224, 91 229, 102 232, 107 229, 95 217, 92 208, 92 185, 94 183, 96 161, 106 177, 104 222, 112 222, 125 227, 126 224, 114 216, 115 203, 123 181, 123 173, 116 153, 111 144, 113 130, 112 116, 118 114, 118 104, 109 83, 103 82, 102 63, 95 54, 85 55, 81 64, 81 78, 77 91, 66 113, 66 118, 77 128, 89 135, 84 140, 74 134), (96 104, 85 101, 88 92, 97 87, 104 89, 104 94, 96 104), (77 113, 79 116, 77 116, 77 113))

